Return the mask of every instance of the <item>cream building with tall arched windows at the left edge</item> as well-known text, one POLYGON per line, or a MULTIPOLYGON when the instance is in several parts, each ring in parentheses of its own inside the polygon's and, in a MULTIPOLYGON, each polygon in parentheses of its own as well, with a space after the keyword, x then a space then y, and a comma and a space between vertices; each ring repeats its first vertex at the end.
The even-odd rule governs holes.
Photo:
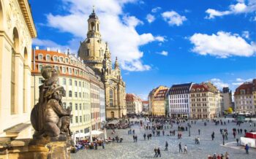
POLYGON ((27 0, 0 1, 0 136, 31 135, 31 43, 37 36, 27 0), (16 130, 12 129, 16 125, 16 130))

